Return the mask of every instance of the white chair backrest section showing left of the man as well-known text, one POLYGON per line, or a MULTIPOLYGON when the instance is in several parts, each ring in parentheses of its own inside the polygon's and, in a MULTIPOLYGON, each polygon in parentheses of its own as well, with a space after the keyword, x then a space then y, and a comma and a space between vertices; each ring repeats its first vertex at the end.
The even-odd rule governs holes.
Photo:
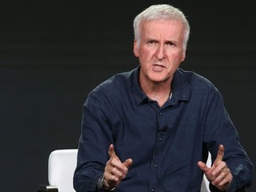
POLYGON ((73 175, 76 169, 77 149, 54 150, 48 160, 48 180, 50 186, 58 187, 59 192, 76 192, 73 188, 73 175))

